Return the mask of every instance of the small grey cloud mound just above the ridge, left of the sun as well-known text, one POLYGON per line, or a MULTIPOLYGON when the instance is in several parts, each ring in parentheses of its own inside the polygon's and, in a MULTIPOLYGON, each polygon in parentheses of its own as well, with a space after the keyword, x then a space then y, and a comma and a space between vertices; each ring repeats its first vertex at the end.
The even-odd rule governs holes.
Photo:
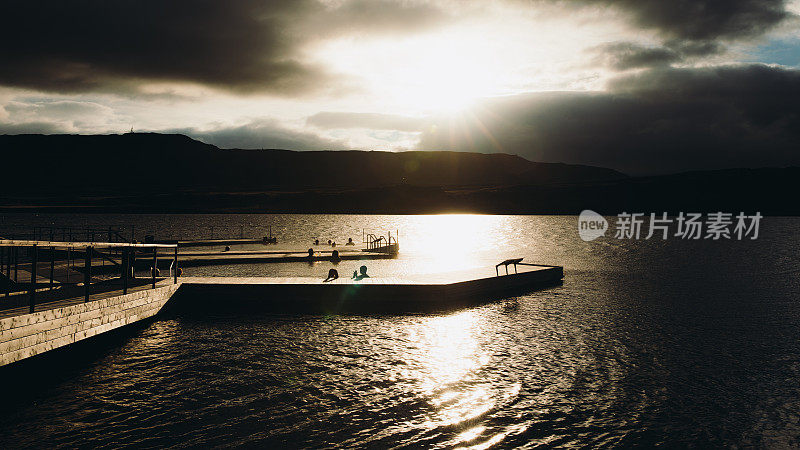
POLYGON ((237 127, 220 127, 201 131, 195 128, 163 130, 163 133, 185 134, 220 148, 339 150, 345 145, 313 133, 294 131, 273 120, 255 120, 237 127))

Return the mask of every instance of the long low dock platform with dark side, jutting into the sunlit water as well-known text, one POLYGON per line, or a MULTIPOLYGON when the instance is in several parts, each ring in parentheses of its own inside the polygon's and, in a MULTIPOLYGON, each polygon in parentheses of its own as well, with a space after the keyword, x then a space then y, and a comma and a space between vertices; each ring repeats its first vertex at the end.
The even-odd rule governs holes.
POLYGON ((226 308, 321 314, 426 312, 458 309, 558 285, 559 266, 529 265, 496 275, 494 268, 431 275, 318 278, 186 277, 170 302, 176 310, 226 308))

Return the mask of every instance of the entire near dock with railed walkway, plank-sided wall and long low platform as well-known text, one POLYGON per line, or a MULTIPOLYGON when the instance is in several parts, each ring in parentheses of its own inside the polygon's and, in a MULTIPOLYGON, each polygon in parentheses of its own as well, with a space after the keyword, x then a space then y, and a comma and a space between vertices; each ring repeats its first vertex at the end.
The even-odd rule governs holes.
MULTIPOLYGON (((560 266, 525 264, 521 258, 503 261, 496 267, 436 274, 402 274, 352 279, 322 280, 309 277, 169 278, 151 272, 146 279, 132 278, 128 270, 134 251, 158 250, 172 253, 177 267, 175 245, 126 243, 76 243, 0 240, 5 248, 0 258, 0 366, 69 346, 87 338, 126 327, 144 319, 170 314, 302 313, 374 314, 421 313, 464 308, 508 298, 537 289, 559 285, 564 277, 560 266), (30 273, 27 291, 18 288, 17 250, 28 246, 30 273), (49 248, 39 267, 40 247, 49 248), (56 249, 80 252, 84 257, 83 283, 55 283, 58 271, 56 249), (105 249, 123 255, 115 266, 118 278, 93 277, 93 255, 105 249), (47 264, 49 262, 49 264, 47 264), (49 270, 47 269, 49 266, 49 270), (513 273, 509 266, 513 266, 513 273), (11 276, 13 267, 13 277, 11 276), (501 270, 501 267, 503 270, 501 270), (45 269, 45 270, 42 270, 45 269), (46 275, 49 280, 42 282, 46 275), (13 278, 13 281, 12 281, 13 278)), ((354 249, 354 253, 361 253, 354 249)), ((105 255, 104 258, 109 258, 105 255)), ((236 256, 236 255, 234 255, 236 256)), ((241 255, 239 255, 241 256, 241 255)), ((22 266, 25 267, 25 266, 22 266)), ((67 266, 69 267, 69 266, 67 266)), ((94 268, 96 269, 96 267, 94 268)), ((380 275, 380 274, 373 274, 380 275)))

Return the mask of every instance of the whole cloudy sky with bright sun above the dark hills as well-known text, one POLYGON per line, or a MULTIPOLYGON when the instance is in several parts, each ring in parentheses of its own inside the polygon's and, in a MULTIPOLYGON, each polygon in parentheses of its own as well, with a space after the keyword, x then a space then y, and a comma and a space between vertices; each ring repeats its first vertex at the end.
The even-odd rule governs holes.
POLYGON ((6 0, 0 134, 800 165, 800 0, 6 0))

